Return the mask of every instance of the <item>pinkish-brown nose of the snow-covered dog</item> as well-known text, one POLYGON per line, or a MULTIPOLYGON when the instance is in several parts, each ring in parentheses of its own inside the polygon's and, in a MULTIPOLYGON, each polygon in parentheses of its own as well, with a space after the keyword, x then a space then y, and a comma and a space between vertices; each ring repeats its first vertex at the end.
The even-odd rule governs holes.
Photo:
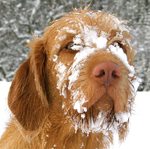
POLYGON ((97 81, 108 87, 120 77, 119 66, 113 62, 103 62, 95 66, 92 75, 97 81))

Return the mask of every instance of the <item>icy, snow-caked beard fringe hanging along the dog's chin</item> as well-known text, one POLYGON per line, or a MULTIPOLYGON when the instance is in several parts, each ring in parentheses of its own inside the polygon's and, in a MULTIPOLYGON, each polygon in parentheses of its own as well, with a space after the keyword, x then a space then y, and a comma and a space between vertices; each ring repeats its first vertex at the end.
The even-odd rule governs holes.
POLYGON ((118 133, 120 129, 127 126, 130 117, 130 113, 115 114, 113 111, 99 111, 97 116, 95 116, 92 108, 85 115, 77 114, 70 117, 75 131, 79 130, 87 135, 90 133, 103 133, 105 136, 109 133, 118 133))

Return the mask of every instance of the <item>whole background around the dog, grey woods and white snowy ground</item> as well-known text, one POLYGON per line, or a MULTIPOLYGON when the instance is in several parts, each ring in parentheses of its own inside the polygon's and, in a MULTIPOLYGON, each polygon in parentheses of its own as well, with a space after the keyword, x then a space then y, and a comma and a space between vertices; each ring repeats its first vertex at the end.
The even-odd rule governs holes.
MULTIPOLYGON (((12 80, 19 64, 27 58, 26 44, 34 35, 40 36, 52 20, 88 4, 91 9, 108 11, 127 21, 137 50, 136 72, 142 79, 139 91, 150 91, 149 0, 0 0, 0 136, 10 116, 7 81, 12 80)), ((112 149, 150 148, 149 105, 150 92, 138 92, 128 137, 112 149)))

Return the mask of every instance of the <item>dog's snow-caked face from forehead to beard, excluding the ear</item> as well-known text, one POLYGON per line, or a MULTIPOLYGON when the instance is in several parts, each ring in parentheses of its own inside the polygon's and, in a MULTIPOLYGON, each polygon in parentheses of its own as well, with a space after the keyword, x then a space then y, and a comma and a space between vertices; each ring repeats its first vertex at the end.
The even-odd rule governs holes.
POLYGON ((123 138, 137 88, 128 30, 94 11, 70 13, 49 30, 53 76, 68 121, 76 131, 115 130, 123 138))

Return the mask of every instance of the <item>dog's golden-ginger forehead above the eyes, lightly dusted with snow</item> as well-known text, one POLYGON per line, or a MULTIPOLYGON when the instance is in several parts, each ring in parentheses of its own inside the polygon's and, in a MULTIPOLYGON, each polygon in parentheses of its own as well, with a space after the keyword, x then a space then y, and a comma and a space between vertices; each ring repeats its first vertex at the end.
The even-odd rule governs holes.
MULTIPOLYGON (((110 35, 111 33, 126 32, 127 28, 113 15, 101 11, 73 11, 64 17, 54 21, 49 28, 49 49, 51 56, 57 54, 62 47, 73 40, 81 32, 91 34, 101 34, 102 32, 110 35)), ((112 34, 113 35, 113 34, 112 34)), ((127 35, 127 34, 126 34, 127 35)), ((113 35, 115 36, 115 35, 113 35)))

